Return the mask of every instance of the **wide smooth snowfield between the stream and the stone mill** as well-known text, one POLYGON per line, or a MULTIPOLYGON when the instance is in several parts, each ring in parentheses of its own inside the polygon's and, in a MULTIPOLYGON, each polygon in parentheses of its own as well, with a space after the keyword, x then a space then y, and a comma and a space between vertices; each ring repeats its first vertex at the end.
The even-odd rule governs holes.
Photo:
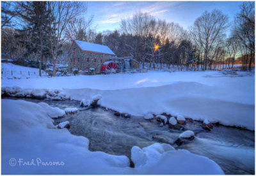
POLYGON ((198 121, 208 119, 254 130, 255 78, 246 72, 237 74, 241 77, 228 77, 219 71, 148 71, 132 75, 4 79, 2 91, 17 86, 22 92, 58 89, 65 98, 77 101, 100 94, 98 104, 118 112, 141 117, 164 112, 182 114, 198 121))

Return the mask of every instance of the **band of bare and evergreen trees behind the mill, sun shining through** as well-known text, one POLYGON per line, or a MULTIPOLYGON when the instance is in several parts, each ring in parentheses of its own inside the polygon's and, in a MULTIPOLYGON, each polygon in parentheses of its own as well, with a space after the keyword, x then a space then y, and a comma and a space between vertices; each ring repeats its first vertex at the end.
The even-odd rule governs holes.
POLYGON ((31 58, 41 63, 66 63, 70 39, 107 45, 117 57, 130 56, 142 68, 243 70, 255 62, 255 6, 244 2, 234 21, 220 10, 205 11, 188 30, 179 24, 136 11, 115 31, 97 32, 84 2, 2 2, 2 58, 31 58), (85 18, 86 17, 86 18, 85 18), (230 33, 227 36, 227 33, 230 33), (237 58, 237 59, 236 59, 237 58))

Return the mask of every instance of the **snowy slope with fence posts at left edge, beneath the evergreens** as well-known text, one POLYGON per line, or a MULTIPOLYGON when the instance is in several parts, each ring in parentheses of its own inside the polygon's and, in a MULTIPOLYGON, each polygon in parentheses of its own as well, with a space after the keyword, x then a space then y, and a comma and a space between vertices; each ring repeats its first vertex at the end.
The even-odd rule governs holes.
MULTIPOLYGON (((1 64, 1 71, 3 74, 1 78, 18 78, 18 79, 26 79, 26 78, 38 78, 39 77, 39 69, 38 68, 30 68, 26 66, 17 66, 11 63, 2 63, 1 64), (12 75, 13 71, 13 75, 12 75), (21 71, 21 73, 20 73, 21 71), (28 73, 29 72, 29 73, 28 73)), ((45 71, 42 70, 42 76, 45 77, 47 74, 45 71)))

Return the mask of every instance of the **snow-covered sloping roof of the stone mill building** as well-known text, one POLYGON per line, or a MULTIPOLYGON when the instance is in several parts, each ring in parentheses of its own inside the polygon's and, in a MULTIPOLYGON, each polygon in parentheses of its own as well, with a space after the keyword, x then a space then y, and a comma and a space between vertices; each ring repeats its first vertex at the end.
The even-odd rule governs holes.
POLYGON ((99 52, 102 54, 111 54, 115 55, 113 51, 108 46, 105 45, 99 45, 95 43, 89 43, 86 41, 80 41, 80 40, 74 40, 76 44, 78 45, 79 48, 83 51, 88 51, 88 52, 99 52))

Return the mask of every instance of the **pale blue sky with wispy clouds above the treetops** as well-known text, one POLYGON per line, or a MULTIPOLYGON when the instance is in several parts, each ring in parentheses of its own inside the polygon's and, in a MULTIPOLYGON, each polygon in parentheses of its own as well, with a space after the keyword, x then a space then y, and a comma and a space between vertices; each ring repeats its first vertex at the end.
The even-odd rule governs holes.
POLYGON ((97 31, 115 30, 122 18, 135 11, 147 11, 156 18, 177 22, 184 29, 193 25, 197 17, 207 10, 218 9, 234 20, 242 1, 88 1, 88 15, 93 15, 97 31))

